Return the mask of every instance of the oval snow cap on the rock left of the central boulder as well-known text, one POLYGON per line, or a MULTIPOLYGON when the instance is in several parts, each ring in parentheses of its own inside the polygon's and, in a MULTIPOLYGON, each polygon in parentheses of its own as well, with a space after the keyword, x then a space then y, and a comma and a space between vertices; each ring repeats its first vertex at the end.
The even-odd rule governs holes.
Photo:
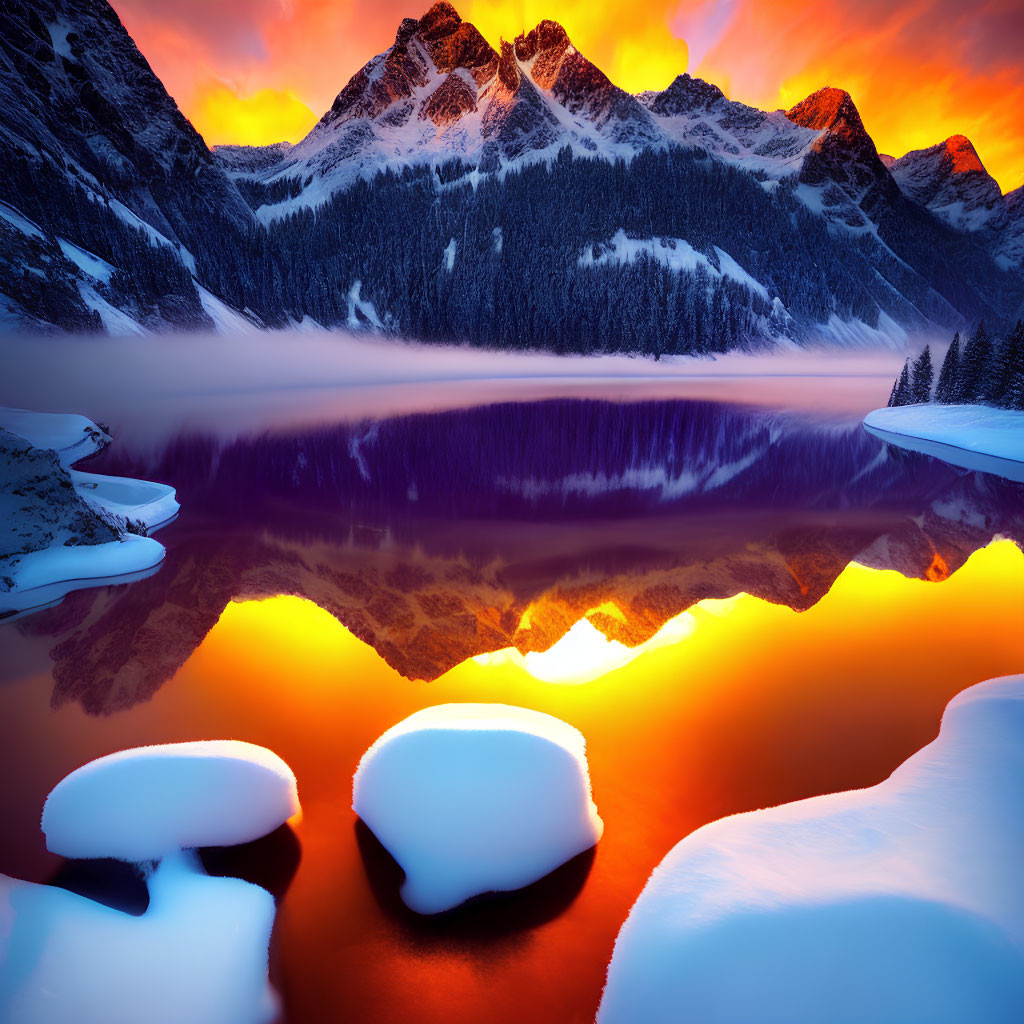
POLYGON ((65 857, 143 861, 251 842, 298 809, 295 776, 271 751, 200 740, 90 761, 46 798, 42 828, 47 849, 65 857))

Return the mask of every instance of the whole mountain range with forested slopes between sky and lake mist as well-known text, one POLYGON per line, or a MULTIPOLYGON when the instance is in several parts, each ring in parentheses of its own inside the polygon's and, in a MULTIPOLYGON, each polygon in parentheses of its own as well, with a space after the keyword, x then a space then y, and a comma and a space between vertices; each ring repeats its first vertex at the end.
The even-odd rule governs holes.
POLYGON ((1024 188, 851 96, 632 95, 542 22, 406 18, 295 145, 211 152, 104 0, 0 10, 0 326, 559 351, 902 346, 1024 302, 1024 188))

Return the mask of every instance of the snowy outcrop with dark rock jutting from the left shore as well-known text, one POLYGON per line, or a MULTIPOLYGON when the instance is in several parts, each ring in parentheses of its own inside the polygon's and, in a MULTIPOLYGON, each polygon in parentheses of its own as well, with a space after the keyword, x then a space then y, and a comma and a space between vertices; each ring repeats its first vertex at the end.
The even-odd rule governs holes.
POLYGON ((0 408, 0 615, 137 579, 163 560, 163 546, 128 525, 147 534, 173 519, 173 487, 70 468, 109 442, 82 416, 0 408))

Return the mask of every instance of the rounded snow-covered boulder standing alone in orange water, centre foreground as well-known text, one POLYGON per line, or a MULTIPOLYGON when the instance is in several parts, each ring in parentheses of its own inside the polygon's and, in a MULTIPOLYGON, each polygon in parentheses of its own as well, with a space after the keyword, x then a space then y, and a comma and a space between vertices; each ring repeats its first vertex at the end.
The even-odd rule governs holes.
POLYGON ((359 762, 352 807, 419 913, 527 886, 603 829, 579 730, 506 705, 441 705, 388 729, 359 762))

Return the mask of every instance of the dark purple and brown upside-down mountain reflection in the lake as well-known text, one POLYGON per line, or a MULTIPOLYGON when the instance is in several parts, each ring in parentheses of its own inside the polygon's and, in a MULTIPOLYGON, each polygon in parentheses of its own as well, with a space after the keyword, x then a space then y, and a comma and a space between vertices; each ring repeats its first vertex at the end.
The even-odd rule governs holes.
MULTIPOLYGON (((635 646, 708 598, 797 610, 851 562, 942 580, 1024 486, 897 452, 857 422, 724 404, 509 403, 228 442, 182 434, 90 468, 172 483, 148 580, 7 628, 45 646, 53 705, 148 699, 232 600, 295 595, 402 675, 544 651, 586 616, 635 646)), ((42 650, 42 646, 38 648, 42 650)))

